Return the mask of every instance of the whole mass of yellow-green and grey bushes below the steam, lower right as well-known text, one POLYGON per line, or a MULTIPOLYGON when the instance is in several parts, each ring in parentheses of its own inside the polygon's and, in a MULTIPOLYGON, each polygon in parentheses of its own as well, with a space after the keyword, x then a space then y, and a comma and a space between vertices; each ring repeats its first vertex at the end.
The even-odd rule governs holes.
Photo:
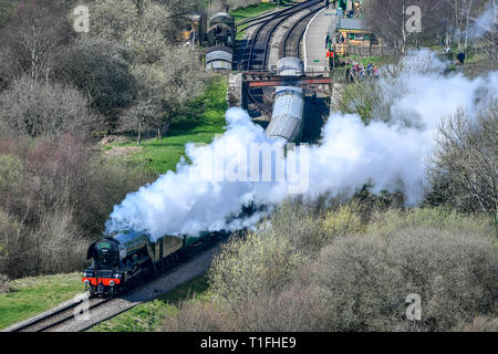
POLYGON ((209 302, 168 331, 485 331, 498 306, 496 230, 448 208, 375 211, 286 202, 221 248, 209 302), (307 244, 307 242, 311 243, 307 244), (321 250, 321 251, 320 251, 321 250), (318 252, 319 251, 319 252, 318 252), (303 256, 305 254, 305 256, 303 256), (422 321, 408 321, 408 294, 422 321), (486 322, 486 323, 485 323, 486 322))

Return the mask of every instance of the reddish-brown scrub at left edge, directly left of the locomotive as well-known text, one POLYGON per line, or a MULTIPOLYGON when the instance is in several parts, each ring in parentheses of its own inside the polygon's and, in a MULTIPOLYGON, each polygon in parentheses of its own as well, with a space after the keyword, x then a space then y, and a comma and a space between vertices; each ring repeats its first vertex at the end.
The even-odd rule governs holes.
POLYGON ((151 181, 101 159, 77 136, 0 139, 0 273, 81 270, 115 204, 151 181))

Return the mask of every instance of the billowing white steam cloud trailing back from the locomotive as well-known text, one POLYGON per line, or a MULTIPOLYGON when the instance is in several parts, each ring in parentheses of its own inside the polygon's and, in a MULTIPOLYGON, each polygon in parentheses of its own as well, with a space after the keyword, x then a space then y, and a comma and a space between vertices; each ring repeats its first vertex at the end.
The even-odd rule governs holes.
MULTIPOLYGON (((461 74, 444 76, 444 64, 429 51, 412 53, 404 62, 405 70, 397 77, 380 81, 382 105, 386 110, 374 112, 369 125, 357 115, 336 113, 329 117, 322 144, 309 149, 307 197, 324 191, 353 191, 370 181, 374 192, 401 188, 407 202, 415 204, 421 197, 427 157, 440 119, 458 108, 473 114, 480 104, 498 98, 498 72, 475 80, 461 74), (388 117, 381 116, 380 112, 388 112, 388 117)), ((261 215, 236 221, 227 218, 251 202, 271 206, 289 197, 288 180, 206 178, 222 170, 219 164, 212 163, 212 156, 232 168, 245 154, 240 152, 247 152, 251 144, 278 144, 268 139, 263 129, 240 108, 228 110, 226 119, 226 133, 211 144, 187 144, 190 164, 181 160, 176 173, 162 175, 115 206, 106 223, 107 231, 133 228, 149 232, 154 239, 163 235, 249 227, 261 215)), ((239 167, 237 174, 243 175, 249 169, 249 166, 239 167)))

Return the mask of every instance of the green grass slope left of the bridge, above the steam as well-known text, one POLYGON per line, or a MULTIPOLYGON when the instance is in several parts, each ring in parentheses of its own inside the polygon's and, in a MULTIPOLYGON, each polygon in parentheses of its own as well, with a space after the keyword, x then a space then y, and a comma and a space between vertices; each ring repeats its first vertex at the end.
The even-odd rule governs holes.
MULTIPOLYGON (((175 119, 166 136, 144 139, 138 150, 132 150, 120 158, 131 165, 141 165, 155 173, 175 170, 176 164, 185 156, 185 144, 210 143, 216 134, 224 133, 227 84, 224 77, 210 84, 199 98, 187 105, 187 113, 175 119)), ((105 149, 136 148, 136 142, 112 143, 105 149)))

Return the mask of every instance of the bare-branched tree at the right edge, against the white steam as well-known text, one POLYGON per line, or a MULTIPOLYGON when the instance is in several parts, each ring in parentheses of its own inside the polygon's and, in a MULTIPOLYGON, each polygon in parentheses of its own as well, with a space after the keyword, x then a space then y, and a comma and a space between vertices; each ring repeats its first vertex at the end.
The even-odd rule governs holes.
POLYGON ((460 111, 440 125, 429 170, 432 202, 498 216, 497 112, 496 103, 477 119, 460 111))

